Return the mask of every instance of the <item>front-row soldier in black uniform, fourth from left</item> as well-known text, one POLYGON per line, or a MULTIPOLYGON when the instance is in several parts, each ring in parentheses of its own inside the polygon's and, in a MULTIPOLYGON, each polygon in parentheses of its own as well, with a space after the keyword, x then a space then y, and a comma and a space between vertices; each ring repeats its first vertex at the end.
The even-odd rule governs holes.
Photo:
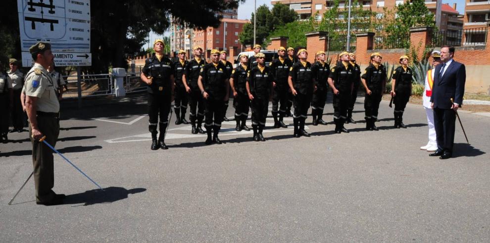
POLYGON ((311 72, 311 64, 306 61, 308 52, 306 49, 298 50, 299 61, 296 62, 289 72, 288 84, 294 96, 294 137, 309 137, 310 134, 304 130, 304 121, 310 107, 311 97, 315 87, 315 79, 311 72))

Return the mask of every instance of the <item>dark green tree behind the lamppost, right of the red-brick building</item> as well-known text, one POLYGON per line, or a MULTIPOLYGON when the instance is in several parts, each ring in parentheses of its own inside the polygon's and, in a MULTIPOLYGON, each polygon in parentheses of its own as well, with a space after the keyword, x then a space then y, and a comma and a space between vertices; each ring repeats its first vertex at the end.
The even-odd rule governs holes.
MULTIPOLYGON (((261 5, 257 8, 257 23, 255 43, 263 44, 269 33, 274 32, 277 28, 284 26, 287 23, 293 22, 297 18, 297 14, 293 9, 282 3, 276 3, 272 10, 267 5, 261 5)), ((253 21, 255 14, 252 13, 250 23, 244 25, 243 31, 240 33, 240 42, 244 45, 253 44, 253 21)))

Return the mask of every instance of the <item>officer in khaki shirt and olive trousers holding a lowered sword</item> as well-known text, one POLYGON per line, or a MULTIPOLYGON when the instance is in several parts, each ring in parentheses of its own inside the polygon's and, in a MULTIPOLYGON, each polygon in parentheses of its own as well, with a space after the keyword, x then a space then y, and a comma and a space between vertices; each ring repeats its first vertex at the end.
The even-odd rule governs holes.
POLYGON ((36 186, 36 203, 56 205, 63 203, 64 194, 55 194, 53 153, 39 141, 42 138, 51 145, 56 145, 59 135, 59 102, 55 81, 47 68, 54 59, 49 43, 39 42, 29 51, 35 61, 26 75, 26 111, 29 117, 29 134, 32 142, 32 160, 34 166, 34 183, 36 186))

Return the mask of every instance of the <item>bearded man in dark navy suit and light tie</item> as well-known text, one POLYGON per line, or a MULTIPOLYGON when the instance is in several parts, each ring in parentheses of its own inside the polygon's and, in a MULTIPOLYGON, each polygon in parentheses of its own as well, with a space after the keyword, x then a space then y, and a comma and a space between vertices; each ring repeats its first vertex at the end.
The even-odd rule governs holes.
POLYGON ((463 102, 466 80, 464 64, 454 61, 453 57, 454 47, 441 48, 442 64, 436 67, 431 96, 438 149, 429 156, 441 156, 440 159, 447 159, 452 155, 456 111, 463 102))

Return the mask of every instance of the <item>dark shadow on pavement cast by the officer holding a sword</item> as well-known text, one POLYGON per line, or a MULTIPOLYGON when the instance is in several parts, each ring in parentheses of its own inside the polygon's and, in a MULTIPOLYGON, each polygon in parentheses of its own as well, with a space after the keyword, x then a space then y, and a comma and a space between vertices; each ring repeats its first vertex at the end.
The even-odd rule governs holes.
POLYGON ((128 194, 137 194, 147 191, 145 188, 134 188, 126 190, 122 187, 108 187, 103 191, 100 189, 86 191, 84 193, 66 195, 63 204, 83 203, 84 206, 111 203, 128 198, 128 194))

